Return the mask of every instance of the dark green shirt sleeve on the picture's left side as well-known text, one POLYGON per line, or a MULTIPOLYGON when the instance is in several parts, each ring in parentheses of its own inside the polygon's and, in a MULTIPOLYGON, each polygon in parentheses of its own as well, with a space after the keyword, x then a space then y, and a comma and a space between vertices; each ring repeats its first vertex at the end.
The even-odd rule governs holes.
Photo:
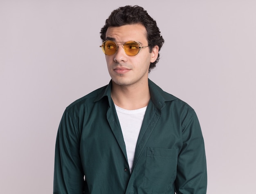
POLYGON ((85 181, 79 154, 80 135, 75 124, 65 110, 56 138, 53 194, 83 194, 85 181))

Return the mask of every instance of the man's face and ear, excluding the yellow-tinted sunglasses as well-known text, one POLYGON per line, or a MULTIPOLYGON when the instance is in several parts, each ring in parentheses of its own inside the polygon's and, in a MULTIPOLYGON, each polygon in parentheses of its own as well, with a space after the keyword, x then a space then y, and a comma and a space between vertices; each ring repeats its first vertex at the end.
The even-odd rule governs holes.
MULTIPOLYGON (((113 40, 117 44, 134 40, 141 43, 141 46, 148 46, 146 28, 141 24, 130 24, 119 27, 108 27, 106 40, 113 40)), ((158 46, 146 47, 135 56, 128 56, 123 46, 118 45, 117 52, 113 55, 106 55, 108 72, 113 84, 120 86, 136 86, 147 82, 148 68, 150 62, 155 62, 158 56, 158 46)))

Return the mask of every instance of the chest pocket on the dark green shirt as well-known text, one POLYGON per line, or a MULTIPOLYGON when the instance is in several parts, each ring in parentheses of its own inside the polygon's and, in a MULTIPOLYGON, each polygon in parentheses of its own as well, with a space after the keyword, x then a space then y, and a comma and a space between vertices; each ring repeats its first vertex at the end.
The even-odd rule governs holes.
POLYGON ((147 148, 144 189, 148 193, 164 193, 173 185, 177 174, 178 150, 147 148))

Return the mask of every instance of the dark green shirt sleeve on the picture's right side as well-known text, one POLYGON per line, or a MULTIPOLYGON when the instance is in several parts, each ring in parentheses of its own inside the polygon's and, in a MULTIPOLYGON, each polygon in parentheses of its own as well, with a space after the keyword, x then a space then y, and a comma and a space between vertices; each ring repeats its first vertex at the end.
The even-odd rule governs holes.
POLYGON ((206 194, 207 166, 202 131, 194 110, 189 110, 182 123, 183 146, 178 155, 175 192, 206 194))

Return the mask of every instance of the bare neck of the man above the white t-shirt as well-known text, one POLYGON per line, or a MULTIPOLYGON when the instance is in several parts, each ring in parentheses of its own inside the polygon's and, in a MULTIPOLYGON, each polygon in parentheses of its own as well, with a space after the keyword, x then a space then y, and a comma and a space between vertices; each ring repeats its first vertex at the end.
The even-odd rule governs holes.
POLYGON ((121 108, 127 110, 143 108, 150 100, 148 80, 137 86, 121 86, 112 82, 111 97, 121 108))

